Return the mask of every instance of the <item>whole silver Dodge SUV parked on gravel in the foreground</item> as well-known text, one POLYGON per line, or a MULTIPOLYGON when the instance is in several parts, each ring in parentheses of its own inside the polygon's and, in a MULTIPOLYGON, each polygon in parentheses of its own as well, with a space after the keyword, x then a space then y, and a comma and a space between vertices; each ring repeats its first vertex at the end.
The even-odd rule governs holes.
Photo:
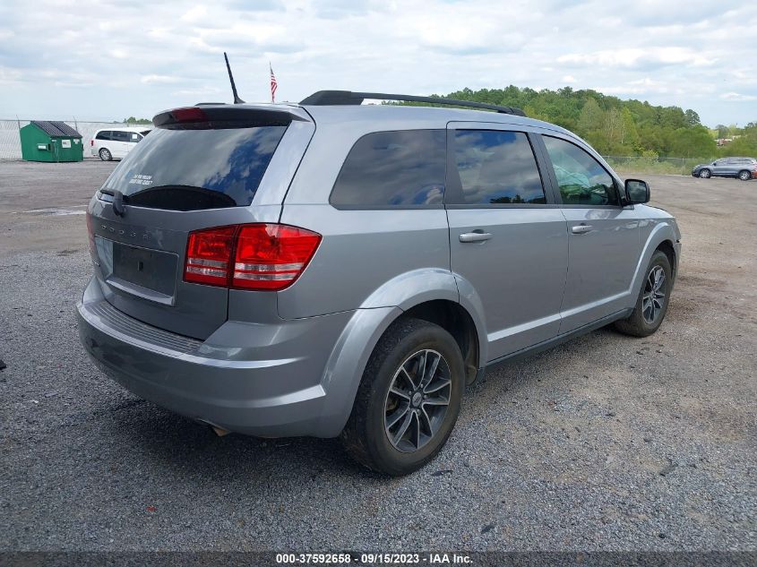
POLYGON ((368 98, 427 100, 155 116, 87 215, 79 329, 104 372, 217 433, 340 436, 402 475, 487 367, 657 331, 681 245, 647 184, 516 108, 368 98))

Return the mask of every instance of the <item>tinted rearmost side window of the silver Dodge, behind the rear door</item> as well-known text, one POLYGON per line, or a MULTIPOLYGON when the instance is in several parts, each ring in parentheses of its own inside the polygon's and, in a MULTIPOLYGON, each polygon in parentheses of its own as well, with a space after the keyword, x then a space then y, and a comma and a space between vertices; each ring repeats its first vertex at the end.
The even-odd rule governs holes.
POLYGON ((340 206, 441 204, 444 194, 443 130, 369 133, 349 150, 331 192, 340 206))

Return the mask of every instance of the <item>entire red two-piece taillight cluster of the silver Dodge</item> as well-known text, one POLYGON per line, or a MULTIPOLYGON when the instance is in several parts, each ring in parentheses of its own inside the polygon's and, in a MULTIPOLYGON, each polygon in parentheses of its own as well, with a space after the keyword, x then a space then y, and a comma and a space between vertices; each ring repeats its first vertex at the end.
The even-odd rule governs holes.
POLYGON ((189 235, 184 279, 231 288, 287 288, 305 270, 321 235, 279 224, 235 225, 189 235))

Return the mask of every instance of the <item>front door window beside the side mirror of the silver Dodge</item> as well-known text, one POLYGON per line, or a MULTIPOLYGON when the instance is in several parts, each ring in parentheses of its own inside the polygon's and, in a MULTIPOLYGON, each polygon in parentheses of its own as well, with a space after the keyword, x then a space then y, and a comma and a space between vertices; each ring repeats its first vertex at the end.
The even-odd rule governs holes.
POLYGON ((612 176, 586 151, 571 142, 543 136, 546 151, 555 166, 557 185, 566 205, 617 205, 612 176))

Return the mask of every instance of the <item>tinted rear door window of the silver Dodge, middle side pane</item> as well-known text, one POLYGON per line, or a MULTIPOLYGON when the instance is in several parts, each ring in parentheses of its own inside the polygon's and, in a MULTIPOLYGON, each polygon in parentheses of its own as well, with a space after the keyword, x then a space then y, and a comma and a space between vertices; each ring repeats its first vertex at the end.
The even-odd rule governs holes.
POLYGON ((458 130, 455 163, 463 203, 546 203, 537 161, 525 133, 458 130))

